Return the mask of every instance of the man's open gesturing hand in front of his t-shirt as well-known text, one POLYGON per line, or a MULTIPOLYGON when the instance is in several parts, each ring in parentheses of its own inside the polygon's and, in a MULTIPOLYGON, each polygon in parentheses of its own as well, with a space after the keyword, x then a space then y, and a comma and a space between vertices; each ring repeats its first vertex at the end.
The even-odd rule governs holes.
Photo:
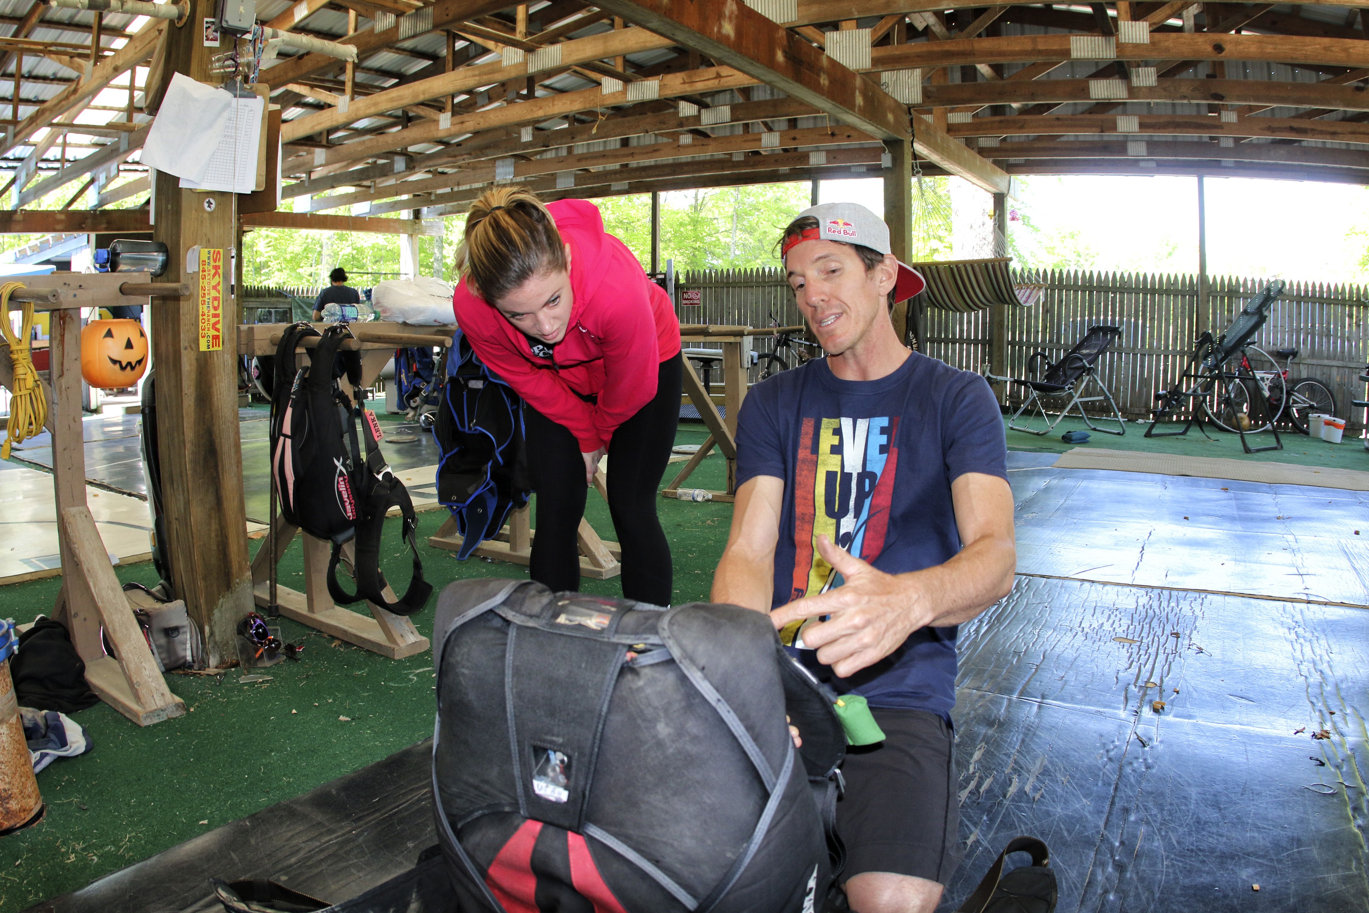
POLYGON ((869 564, 817 537, 817 552, 836 568, 845 583, 771 612, 775 630, 798 619, 830 615, 804 631, 804 646, 817 650, 817 661, 841 678, 860 672, 897 650, 908 635, 928 624, 934 610, 906 576, 876 571, 869 564))

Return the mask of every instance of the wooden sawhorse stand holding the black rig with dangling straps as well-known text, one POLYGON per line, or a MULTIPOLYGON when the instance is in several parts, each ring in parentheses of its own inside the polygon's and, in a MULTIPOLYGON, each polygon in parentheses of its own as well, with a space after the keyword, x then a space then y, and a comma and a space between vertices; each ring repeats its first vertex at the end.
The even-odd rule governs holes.
MULTIPOLYGON (((240 326, 238 352, 241 355, 275 355, 287 326, 285 323, 240 326)), ((316 323, 314 327, 322 331, 327 324, 316 323)), ((372 322, 352 324, 352 333, 356 339, 348 339, 342 348, 352 352, 360 350, 361 386, 370 386, 375 382, 381 368, 394 357, 396 348, 450 345, 452 342, 448 327, 411 327, 404 323, 372 322)), ((305 349, 315 345, 318 345, 318 337, 304 341, 305 349)), ((350 397, 350 390, 345 390, 345 393, 350 397)), ((259 606, 270 606, 271 565, 279 563, 296 534, 303 537, 304 593, 278 583, 275 595, 281 615, 392 660, 402 660, 428 649, 428 639, 420 635, 413 627, 413 621, 402 615, 386 612, 370 601, 366 605, 371 610, 371 617, 335 605, 333 597, 329 595, 327 583, 329 556, 333 545, 326 539, 301 532, 298 527, 290 526, 282 517, 275 519, 271 532, 252 560, 252 594, 259 606), (275 542, 274 554, 270 548, 272 541, 275 542)), ((342 561, 349 565, 353 548, 352 542, 342 546, 342 561)), ((385 589, 385 598, 396 600, 390 587, 385 589)))

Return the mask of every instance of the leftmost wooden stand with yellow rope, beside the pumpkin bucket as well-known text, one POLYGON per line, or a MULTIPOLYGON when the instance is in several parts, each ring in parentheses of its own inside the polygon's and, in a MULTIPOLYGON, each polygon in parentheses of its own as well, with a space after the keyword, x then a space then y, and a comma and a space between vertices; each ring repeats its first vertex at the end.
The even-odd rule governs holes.
MULTIPOLYGON (((185 702, 171 694, 157 669, 133 609, 138 602, 123 593, 110 554, 86 506, 85 441, 81 433, 81 308, 148 305, 155 298, 190 294, 183 283, 129 282, 123 272, 53 272, 33 277, 33 287, 15 292, 11 305, 30 301, 48 311, 51 326, 48 431, 52 433, 52 487, 56 494, 57 542, 62 553, 62 591, 53 617, 71 632, 85 663, 86 683, 105 704, 138 725, 182 716, 185 702), (114 647, 104 650, 100 636, 114 647)), ((8 313, 4 319, 10 319, 8 313)), ((7 345, 0 353, 0 382, 14 389, 7 345)))

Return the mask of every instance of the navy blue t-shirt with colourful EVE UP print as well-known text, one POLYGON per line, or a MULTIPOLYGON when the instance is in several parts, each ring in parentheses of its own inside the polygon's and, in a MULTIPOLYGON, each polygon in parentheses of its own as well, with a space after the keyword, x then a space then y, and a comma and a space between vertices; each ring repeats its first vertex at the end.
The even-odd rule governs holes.
MULTIPOLYGON (((878 381, 842 381, 815 359, 756 385, 737 423, 737 485, 758 475, 784 480, 772 608, 841 586, 817 553, 820 532, 886 574, 946 563, 961 546, 950 483, 965 472, 1006 479, 1006 461, 988 383, 917 352, 878 381)), ((797 628, 780 632, 786 645, 797 628)), ((797 654, 838 693, 950 719, 954 627, 913 631, 846 679, 815 650, 797 654)))

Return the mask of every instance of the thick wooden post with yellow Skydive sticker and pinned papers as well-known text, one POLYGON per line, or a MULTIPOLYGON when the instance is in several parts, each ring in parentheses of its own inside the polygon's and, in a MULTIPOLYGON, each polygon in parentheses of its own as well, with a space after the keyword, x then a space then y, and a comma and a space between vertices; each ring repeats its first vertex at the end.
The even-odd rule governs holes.
MULTIPOLYGON (((190 0, 188 25, 167 30, 166 82, 175 73, 220 82, 209 73, 214 49, 204 47, 199 27, 207 15, 214 15, 214 3, 190 0)), ((164 86, 146 89, 157 96, 164 92, 164 86)), ((204 632, 209 665, 218 665, 235 657, 238 620, 252 612, 238 439, 237 341, 230 323, 237 303, 227 274, 222 345, 201 352, 199 283, 207 277, 186 272, 186 253, 199 246, 223 250, 227 257, 238 223, 237 197, 185 190, 171 174, 156 172, 155 179, 152 235, 167 245, 170 255, 162 281, 189 282, 194 289, 179 303, 152 308, 167 556, 175 594, 185 600, 204 632)))

